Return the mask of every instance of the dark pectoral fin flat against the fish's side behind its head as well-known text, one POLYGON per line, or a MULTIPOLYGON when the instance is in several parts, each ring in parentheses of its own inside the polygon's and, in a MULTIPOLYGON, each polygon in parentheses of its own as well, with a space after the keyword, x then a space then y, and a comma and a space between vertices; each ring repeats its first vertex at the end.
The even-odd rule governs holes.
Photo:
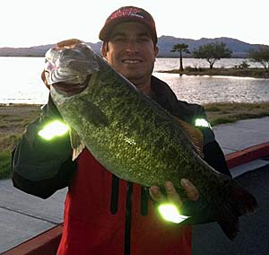
POLYGON ((93 104, 91 101, 84 100, 84 107, 79 110, 79 114, 81 116, 86 116, 91 123, 99 128, 99 127, 107 127, 109 124, 108 117, 106 114, 100 110, 100 108, 93 104), (81 112, 81 113, 80 113, 81 112))

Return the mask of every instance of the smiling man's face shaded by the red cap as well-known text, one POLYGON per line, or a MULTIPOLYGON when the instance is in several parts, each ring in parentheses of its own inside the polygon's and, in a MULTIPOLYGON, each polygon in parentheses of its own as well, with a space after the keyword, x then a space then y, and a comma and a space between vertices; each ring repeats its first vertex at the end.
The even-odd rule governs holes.
POLYGON ((102 55, 117 72, 133 82, 149 79, 158 48, 147 28, 138 22, 117 24, 102 55))

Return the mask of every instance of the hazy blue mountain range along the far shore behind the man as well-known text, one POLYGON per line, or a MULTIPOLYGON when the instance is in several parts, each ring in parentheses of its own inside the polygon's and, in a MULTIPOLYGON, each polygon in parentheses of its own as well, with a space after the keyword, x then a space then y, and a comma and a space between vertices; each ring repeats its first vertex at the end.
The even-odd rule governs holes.
MULTIPOLYGON (((192 39, 183 39, 183 38, 175 38, 172 36, 161 36, 158 40, 159 54, 158 57, 178 57, 178 53, 170 52, 173 46, 177 43, 186 43, 188 45, 188 49, 191 52, 194 48, 199 48, 200 46, 207 43, 214 42, 224 42, 227 48, 230 48, 232 51, 232 57, 247 57, 247 52, 249 49, 257 49, 260 44, 250 44, 244 41, 221 37, 221 38, 201 38, 199 40, 192 39)), ((88 43, 91 48, 100 54, 101 41, 97 43, 88 43)), ((48 48, 53 47, 53 44, 35 46, 30 48, 0 48, 0 56, 1 57, 44 57, 48 48)), ((189 55, 185 55, 184 57, 190 57, 189 55)))

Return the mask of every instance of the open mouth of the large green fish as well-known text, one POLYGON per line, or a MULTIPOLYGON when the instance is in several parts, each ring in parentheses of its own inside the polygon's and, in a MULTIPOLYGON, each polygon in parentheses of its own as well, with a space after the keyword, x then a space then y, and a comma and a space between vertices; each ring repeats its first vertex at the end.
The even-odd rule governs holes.
POLYGON ((66 84, 65 82, 59 82, 56 84, 52 84, 52 86, 57 93, 70 97, 84 91, 87 88, 90 79, 91 75, 88 75, 85 82, 83 82, 82 84, 66 84))

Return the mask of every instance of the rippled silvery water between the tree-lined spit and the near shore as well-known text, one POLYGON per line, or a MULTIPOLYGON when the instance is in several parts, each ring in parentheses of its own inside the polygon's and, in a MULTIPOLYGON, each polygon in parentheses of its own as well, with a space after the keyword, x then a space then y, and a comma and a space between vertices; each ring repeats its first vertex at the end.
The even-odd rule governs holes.
POLYGON ((154 73, 167 82, 178 99, 196 103, 269 101, 269 80, 233 76, 154 73))

